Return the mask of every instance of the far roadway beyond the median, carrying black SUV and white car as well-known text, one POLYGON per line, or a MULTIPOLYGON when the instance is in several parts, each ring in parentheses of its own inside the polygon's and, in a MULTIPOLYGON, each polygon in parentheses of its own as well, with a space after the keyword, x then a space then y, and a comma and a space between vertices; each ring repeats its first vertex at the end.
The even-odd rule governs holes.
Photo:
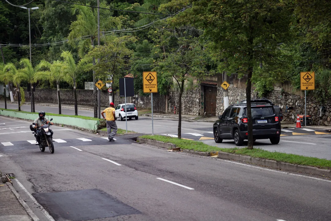
MULTIPOLYGON (((0 102, 0 107, 4 103, 0 102)), ((8 108, 16 109, 17 104, 8 104, 8 108)), ((30 105, 23 105, 22 110, 30 111, 30 105)), ((58 113, 57 107, 35 106, 36 111, 44 110, 46 112, 58 113)), ((72 108, 62 108, 62 113, 67 115, 74 114, 72 108)), ((78 114, 93 117, 90 110, 78 109, 78 114)), ((36 116, 37 117, 37 116, 36 116)), ((125 121, 117 121, 118 128, 126 129, 125 121)), ((26 125, 25 125, 26 126, 26 125)), ((27 125, 28 126, 28 125, 27 125)), ((17 127, 17 126, 16 126, 17 127)), ((216 144, 213 140, 213 123, 208 122, 186 122, 182 121, 182 137, 192 140, 201 140, 209 145, 219 147, 235 147, 233 140, 223 140, 222 143, 216 144)), ((0 133, 4 128, 0 125, 0 133)), ((138 133, 152 134, 152 120, 150 117, 140 116, 138 120, 128 120, 127 129, 138 133)), ((5 129, 7 130, 7 129, 5 129)), ((178 120, 154 118, 154 134, 177 136, 178 120)), ((63 139, 63 138, 61 138, 63 139)), ((331 134, 322 129, 282 129, 281 141, 277 145, 272 145, 269 140, 257 140, 254 142, 255 147, 269 151, 279 151, 286 153, 326 158, 331 160, 331 134)), ((244 142, 247 145, 247 142, 244 142)))

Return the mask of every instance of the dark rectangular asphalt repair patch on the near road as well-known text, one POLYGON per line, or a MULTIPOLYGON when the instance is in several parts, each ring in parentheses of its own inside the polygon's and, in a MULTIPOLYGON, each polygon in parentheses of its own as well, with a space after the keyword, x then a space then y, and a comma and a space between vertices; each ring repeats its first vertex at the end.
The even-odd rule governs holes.
POLYGON ((97 189, 58 193, 32 193, 38 202, 60 220, 93 220, 140 213, 97 189))

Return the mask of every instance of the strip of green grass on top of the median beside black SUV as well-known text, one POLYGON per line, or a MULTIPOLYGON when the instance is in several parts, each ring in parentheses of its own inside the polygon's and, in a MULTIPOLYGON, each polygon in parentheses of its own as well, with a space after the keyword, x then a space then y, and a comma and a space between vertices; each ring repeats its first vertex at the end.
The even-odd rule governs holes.
MULTIPOLYGON (((189 149, 201 152, 212 152, 212 151, 223 151, 227 153, 247 155, 257 158, 263 158, 268 160, 276 160, 279 162, 293 163, 298 165, 313 166, 322 169, 331 169, 331 160, 320 159, 316 157, 308 157, 302 155, 296 155, 291 153, 281 153, 281 152, 270 152, 267 150, 262 150, 260 148, 254 148, 252 150, 247 148, 221 148, 216 146, 211 146, 201 141, 186 140, 171 138, 161 135, 144 135, 141 138, 158 140, 166 143, 173 143, 181 149, 189 149)), ((219 144, 222 145, 221 143, 219 144)))

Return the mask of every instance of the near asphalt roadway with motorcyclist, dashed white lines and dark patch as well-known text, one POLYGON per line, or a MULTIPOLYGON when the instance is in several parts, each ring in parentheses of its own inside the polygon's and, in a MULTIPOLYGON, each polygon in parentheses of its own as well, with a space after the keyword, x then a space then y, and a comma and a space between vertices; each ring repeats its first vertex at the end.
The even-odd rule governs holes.
MULTIPOLYGON (((4 117, 0 124, 28 126, 4 117)), ((13 144, 0 145, 0 170, 13 173, 14 187, 41 221, 50 219, 35 202, 58 221, 330 220, 328 181, 53 130, 54 139, 67 141, 54 142, 54 154, 27 142, 28 128, 0 133, 2 143, 13 144)))

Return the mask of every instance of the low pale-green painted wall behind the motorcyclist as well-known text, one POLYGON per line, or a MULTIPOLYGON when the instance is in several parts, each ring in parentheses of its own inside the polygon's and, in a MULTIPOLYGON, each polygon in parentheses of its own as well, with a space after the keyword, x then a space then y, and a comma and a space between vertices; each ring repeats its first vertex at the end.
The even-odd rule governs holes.
MULTIPOLYGON (((38 117, 38 114, 34 114, 34 113, 22 113, 18 111, 8 111, 8 110, 0 110, 0 115, 30 120, 31 123, 38 117)), ((46 117, 48 119, 53 118, 52 122, 55 124, 70 125, 93 131, 97 131, 98 125, 100 123, 99 121, 96 120, 87 120, 77 117, 52 116, 49 114, 47 114, 46 117)))

